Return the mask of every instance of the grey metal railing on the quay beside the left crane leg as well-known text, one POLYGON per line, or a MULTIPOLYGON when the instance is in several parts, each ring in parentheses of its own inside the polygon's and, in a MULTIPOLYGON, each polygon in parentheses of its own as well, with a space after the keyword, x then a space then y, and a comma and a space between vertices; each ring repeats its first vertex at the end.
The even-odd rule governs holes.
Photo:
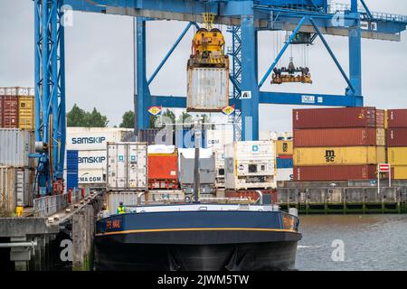
POLYGON ((34 217, 49 217, 68 206, 68 194, 45 196, 33 200, 34 217))

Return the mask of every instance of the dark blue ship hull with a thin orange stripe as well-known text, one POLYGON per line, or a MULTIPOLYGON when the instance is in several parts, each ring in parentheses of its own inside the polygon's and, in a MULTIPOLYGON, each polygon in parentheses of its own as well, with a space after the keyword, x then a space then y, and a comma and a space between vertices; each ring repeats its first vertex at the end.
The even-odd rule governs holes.
POLYGON ((97 270, 294 269, 298 218, 281 211, 161 211, 97 222, 97 270))

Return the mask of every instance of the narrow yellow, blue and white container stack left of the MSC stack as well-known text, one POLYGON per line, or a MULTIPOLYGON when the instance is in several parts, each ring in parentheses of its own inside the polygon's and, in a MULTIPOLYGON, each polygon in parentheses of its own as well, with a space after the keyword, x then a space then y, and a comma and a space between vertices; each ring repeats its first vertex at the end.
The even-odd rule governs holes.
POLYGON ((276 168, 277 181, 293 180, 293 142, 292 139, 280 139, 275 141, 276 144, 276 168))

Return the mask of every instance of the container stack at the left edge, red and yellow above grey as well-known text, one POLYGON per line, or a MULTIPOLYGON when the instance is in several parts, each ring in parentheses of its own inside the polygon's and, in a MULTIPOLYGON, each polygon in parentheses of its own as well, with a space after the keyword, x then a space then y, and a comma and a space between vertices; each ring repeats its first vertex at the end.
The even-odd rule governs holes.
POLYGON ((0 215, 33 206, 33 89, 0 88, 0 215))

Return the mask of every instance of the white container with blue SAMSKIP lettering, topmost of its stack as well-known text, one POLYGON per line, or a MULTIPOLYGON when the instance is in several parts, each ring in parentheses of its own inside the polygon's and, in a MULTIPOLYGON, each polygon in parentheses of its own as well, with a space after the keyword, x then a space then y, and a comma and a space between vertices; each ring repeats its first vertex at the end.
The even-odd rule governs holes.
POLYGON ((78 151, 106 150, 108 142, 120 142, 133 132, 128 128, 67 127, 66 149, 78 151))

